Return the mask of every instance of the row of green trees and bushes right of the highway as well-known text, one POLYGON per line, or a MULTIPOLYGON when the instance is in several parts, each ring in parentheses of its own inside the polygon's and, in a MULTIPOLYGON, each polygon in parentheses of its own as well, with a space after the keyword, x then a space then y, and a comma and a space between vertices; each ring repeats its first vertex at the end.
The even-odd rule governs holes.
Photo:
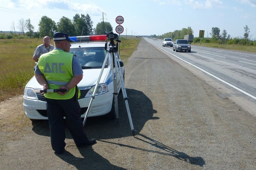
MULTIPOLYGON (((223 30, 220 33, 220 28, 212 27, 210 35, 211 38, 203 38, 202 42, 213 42, 219 44, 242 44, 242 45, 255 45, 256 40, 251 40, 253 35, 250 35, 250 28, 248 25, 244 26, 244 37, 234 37, 232 38, 226 30, 223 30)), ((189 26, 188 28, 182 28, 181 30, 175 30, 174 32, 164 33, 162 35, 151 35, 151 37, 164 39, 164 38, 172 38, 172 40, 183 39, 184 35, 193 35, 194 31, 189 26)), ((199 37, 194 38, 194 42, 200 42, 199 37)))

